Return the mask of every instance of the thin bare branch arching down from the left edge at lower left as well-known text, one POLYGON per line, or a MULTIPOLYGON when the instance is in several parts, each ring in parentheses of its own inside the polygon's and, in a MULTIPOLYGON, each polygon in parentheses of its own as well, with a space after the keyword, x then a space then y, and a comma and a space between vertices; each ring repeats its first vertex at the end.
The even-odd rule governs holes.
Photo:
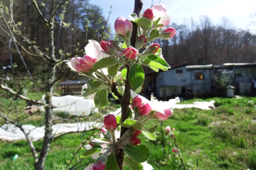
POLYGON ((5 121, 8 121, 8 122, 14 124, 16 127, 19 127, 20 130, 24 133, 25 137, 26 137, 27 140, 28 140, 28 145, 29 145, 29 147, 30 147, 30 149, 31 149, 31 152, 32 152, 32 154, 33 154, 34 162, 36 163, 36 162, 38 161, 38 155, 37 155, 37 151, 36 151, 36 149, 35 149, 35 146, 33 145, 33 142, 31 141, 31 138, 28 137, 29 133, 26 133, 26 132, 25 132, 25 130, 23 129, 22 125, 20 125, 19 123, 15 123, 15 122, 12 121, 11 119, 8 119, 8 118, 6 117, 6 115, 0 113, 0 116, 1 116, 2 118, 4 118, 5 121))

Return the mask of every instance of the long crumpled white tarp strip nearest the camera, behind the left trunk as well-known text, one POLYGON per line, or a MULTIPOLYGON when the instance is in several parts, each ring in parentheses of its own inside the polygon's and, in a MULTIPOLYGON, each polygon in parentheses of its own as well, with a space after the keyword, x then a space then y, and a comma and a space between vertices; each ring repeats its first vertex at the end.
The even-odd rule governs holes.
MULTIPOLYGON (((79 128, 79 131, 85 131, 90 130, 93 128, 100 128, 102 126, 102 123, 95 123, 95 122, 86 122, 86 123, 62 123, 53 125, 53 134, 56 136, 59 136, 61 134, 67 134, 71 132, 77 132, 77 127, 79 128), (56 132, 57 130, 57 132, 56 132)), ((29 133, 29 137, 32 141, 39 141, 42 138, 44 138, 45 135, 45 126, 42 127, 34 127, 32 125, 22 125, 25 132, 29 133)), ((15 125, 12 124, 4 124, 2 127, 0 127, 0 140, 7 141, 7 142, 13 142, 17 140, 24 139, 26 140, 26 137, 24 133, 20 130, 19 127, 15 127, 15 125)))

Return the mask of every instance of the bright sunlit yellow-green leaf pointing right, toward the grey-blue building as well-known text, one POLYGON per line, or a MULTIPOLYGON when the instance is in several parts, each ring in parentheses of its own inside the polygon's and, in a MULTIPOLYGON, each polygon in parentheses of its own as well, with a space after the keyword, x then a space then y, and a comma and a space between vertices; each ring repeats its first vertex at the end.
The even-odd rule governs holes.
POLYGON ((142 64, 145 65, 145 66, 149 66, 154 71, 158 70, 158 68, 160 68, 163 71, 167 71, 167 69, 170 68, 170 66, 168 65, 168 63, 164 59, 162 59, 161 57, 158 57, 156 55, 148 56, 142 62, 142 64))

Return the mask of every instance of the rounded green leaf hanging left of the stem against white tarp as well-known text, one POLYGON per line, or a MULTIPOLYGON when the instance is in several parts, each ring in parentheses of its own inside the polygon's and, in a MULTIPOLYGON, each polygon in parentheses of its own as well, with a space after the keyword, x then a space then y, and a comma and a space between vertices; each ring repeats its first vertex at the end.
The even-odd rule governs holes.
POLYGON ((109 93, 106 89, 100 89, 99 91, 97 91, 94 96, 95 107, 105 108, 109 103, 108 94, 109 93))

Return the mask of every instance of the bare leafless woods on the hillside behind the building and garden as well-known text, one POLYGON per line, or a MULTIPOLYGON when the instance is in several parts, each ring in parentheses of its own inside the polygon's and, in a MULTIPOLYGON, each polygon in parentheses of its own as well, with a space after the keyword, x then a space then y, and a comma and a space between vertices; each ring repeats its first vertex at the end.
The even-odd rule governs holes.
MULTIPOLYGON (((3 4, 8 4, 7 0, 3 4)), ((44 0, 40 4, 40 9, 44 15, 49 11, 50 0, 44 0)), ((19 27, 22 32, 34 40, 35 45, 41 51, 47 52, 49 42, 48 26, 39 16, 31 0, 17 0, 14 3, 15 20, 19 20, 19 27)), ((65 6, 65 13, 59 11, 57 19, 65 16, 62 27, 57 26, 55 32, 55 55, 75 53, 81 51, 88 43, 88 40, 110 40, 115 37, 114 26, 107 22, 107 16, 102 15, 102 8, 93 5, 88 0, 70 0, 65 6), (110 33, 111 32, 111 33, 110 33), (111 38, 110 38, 111 37, 111 38), (65 49, 60 50, 60 49, 65 49)), ((3 20, 0 26, 5 28, 3 20)), ((159 40, 164 58, 170 65, 175 65, 187 61, 193 61, 191 65, 199 64, 221 64, 221 63, 253 63, 256 62, 256 35, 248 30, 236 29, 232 26, 232 21, 227 18, 222 19, 221 24, 214 25, 208 16, 200 16, 196 23, 191 19, 189 24, 170 24, 177 31, 171 40, 159 40)), ((19 37, 17 37, 18 39, 19 37)), ((7 66, 10 63, 9 38, 0 31, 0 66, 7 66)), ((29 44, 24 44, 29 48, 29 44)), ((33 50, 31 50, 33 53, 33 50)), ((12 45, 13 62, 19 67, 18 71, 24 71, 19 55, 12 45)), ((39 75, 39 79, 44 79, 44 60, 34 59, 26 55, 23 51, 25 61, 29 64, 29 69, 39 75), (37 67, 35 67, 37 66, 37 67), (40 77, 41 76, 41 77, 40 77)), ((77 56, 82 56, 79 54, 77 56)), ((67 67, 63 65, 62 67, 67 67)), ((149 70, 148 70, 149 71, 149 70)), ((64 79, 77 79, 78 75, 71 71, 65 73, 64 79), (70 76, 71 75, 71 76, 70 76)))

